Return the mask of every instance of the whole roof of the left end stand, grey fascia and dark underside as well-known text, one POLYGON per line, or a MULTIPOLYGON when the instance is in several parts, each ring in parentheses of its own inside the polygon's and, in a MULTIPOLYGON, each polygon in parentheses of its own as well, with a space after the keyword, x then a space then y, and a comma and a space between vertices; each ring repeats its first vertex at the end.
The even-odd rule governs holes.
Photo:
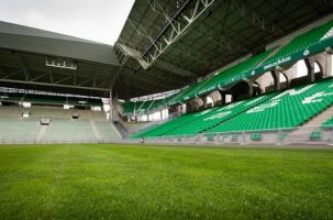
POLYGON ((109 97, 115 84, 123 99, 168 89, 122 67, 110 45, 0 22, 0 86, 109 97), (47 57, 70 58, 77 69, 47 67, 47 57))

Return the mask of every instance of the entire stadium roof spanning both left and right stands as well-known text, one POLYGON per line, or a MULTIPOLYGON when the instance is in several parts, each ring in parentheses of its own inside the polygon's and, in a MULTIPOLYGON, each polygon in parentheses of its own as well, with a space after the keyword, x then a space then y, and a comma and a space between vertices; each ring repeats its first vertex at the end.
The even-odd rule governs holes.
POLYGON ((136 0, 114 47, 0 22, 0 86, 101 97, 113 86, 122 99, 181 88, 328 15, 330 2, 136 0))

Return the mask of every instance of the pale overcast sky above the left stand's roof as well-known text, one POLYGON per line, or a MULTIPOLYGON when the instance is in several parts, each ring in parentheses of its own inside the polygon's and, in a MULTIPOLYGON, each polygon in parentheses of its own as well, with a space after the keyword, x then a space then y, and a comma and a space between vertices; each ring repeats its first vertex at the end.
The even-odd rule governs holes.
POLYGON ((0 20, 113 45, 134 0, 0 0, 0 20))

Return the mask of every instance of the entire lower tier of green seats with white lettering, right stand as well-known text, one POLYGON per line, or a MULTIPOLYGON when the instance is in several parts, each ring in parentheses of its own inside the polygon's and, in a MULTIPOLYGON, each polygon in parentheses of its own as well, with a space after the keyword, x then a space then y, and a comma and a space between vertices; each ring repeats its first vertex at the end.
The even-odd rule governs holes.
POLYGON ((329 78, 282 92, 185 114, 136 138, 292 129, 332 105, 333 79, 329 78))

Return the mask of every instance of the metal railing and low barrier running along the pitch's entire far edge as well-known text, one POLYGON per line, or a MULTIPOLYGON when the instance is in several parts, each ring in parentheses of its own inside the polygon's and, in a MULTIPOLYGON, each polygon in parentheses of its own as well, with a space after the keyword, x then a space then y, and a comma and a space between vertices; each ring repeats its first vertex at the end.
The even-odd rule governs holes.
MULTIPOLYGON (((76 132, 79 132, 76 131, 76 132)), ((284 144, 329 144, 333 145, 333 127, 299 127, 292 129, 257 130, 223 133, 200 133, 197 135, 157 136, 145 139, 116 139, 68 136, 41 139, 20 135, 1 136, 0 144, 62 144, 62 143, 151 143, 151 144, 241 144, 241 145, 284 145, 284 144)))

